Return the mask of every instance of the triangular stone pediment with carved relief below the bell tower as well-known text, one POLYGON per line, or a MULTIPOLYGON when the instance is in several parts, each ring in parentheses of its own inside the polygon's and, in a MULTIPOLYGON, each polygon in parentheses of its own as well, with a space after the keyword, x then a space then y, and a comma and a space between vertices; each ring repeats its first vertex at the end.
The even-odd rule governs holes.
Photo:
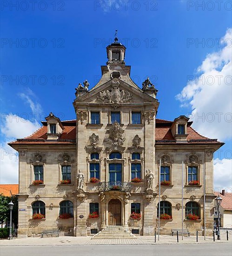
POLYGON ((139 87, 134 88, 118 78, 113 78, 98 88, 90 90, 85 94, 75 99, 74 104, 80 103, 97 103, 109 104, 117 108, 121 104, 128 103, 158 103, 150 95, 146 94, 139 87))

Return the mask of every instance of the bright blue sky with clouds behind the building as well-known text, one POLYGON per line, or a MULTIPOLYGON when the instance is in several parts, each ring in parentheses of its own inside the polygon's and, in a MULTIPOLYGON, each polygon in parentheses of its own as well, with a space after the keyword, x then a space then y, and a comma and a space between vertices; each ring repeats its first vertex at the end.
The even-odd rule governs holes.
MULTIPOLYGON (((192 113, 194 128, 226 142, 215 155, 217 168, 231 168, 230 78, 225 82, 231 72, 232 12, 230 3, 225 5, 230 1, 220 7, 217 1, 180 0, 23 2, 1 2, 3 150, 7 141, 38 128, 51 111, 62 120, 75 118, 75 87, 85 79, 93 87, 99 80, 106 46, 117 29, 133 80, 141 86, 149 76, 159 90, 157 117, 173 120, 192 113), (18 6, 12 6, 16 2, 18 6), (200 75, 215 71, 227 72, 222 74, 224 83, 199 85, 200 75), (217 111, 222 113, 220 121, 217 111), (11 121, 6 117, 10 113, 15 117, 11 121), (202 120, 194 120, 198 113, 204 113, 202 120)), ((13 176, 4 182, 15 181, 13 176)))

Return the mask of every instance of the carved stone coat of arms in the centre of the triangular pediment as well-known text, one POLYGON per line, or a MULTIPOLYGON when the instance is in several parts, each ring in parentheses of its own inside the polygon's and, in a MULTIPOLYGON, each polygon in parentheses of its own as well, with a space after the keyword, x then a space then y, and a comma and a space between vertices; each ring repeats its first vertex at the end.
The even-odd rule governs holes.
POLYGON ((112 103, 113 108, 118 108, 119 103, 131 103, 133 94, 129 91, 119 90, 119 81, 112 82, 112 89, 99 92, 97 100, 102 103, 112 103))

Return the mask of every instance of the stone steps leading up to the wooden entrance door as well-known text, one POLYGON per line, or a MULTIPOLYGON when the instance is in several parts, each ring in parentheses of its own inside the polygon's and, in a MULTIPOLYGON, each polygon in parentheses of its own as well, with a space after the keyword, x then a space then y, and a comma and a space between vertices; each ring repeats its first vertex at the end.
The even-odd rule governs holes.
POLYGON ((91 239, 137 239, 128 229, 123 226, 106 226, 91 239))

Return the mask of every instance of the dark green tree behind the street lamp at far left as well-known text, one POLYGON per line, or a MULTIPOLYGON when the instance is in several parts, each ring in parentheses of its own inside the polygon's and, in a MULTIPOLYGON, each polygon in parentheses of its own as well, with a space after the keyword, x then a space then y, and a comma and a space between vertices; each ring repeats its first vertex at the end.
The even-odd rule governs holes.
POLYGON ((12 210, 12 222, 15 227, 18 226, 18 198, 17 196, 5 196, 0 194, 0 223, 10 219, 10 210, 8 207, 9 202, 13 202, 13 210, 12 210))

